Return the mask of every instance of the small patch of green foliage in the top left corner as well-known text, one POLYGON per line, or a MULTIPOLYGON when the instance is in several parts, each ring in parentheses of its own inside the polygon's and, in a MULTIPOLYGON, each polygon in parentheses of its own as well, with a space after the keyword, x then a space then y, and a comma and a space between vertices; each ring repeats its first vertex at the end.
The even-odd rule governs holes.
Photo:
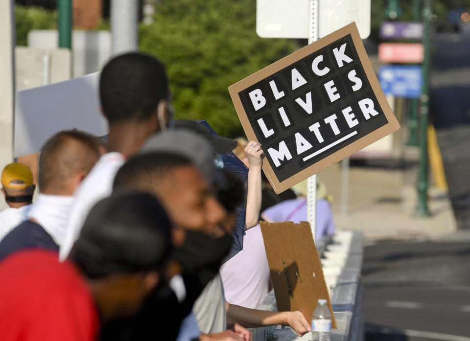
POLYGON ((16 45, 27 45, 28 32, 32 29, 57 27, 57 12, 41 7, 15 5, 16 45))

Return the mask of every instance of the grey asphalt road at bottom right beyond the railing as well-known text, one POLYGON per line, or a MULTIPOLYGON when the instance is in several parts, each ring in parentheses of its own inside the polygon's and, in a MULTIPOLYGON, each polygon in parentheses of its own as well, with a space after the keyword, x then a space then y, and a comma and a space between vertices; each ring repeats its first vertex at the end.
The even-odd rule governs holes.
POLYGON ((470 240, 367 246, 366 341, 470 341, 470 240))

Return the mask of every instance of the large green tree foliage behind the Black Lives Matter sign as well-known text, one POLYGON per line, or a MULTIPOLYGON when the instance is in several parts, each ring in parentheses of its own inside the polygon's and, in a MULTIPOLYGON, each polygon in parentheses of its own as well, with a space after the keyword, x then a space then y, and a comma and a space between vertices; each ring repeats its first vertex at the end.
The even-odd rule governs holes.
POLYGON ((243 135, 228 87, 299 46, 256 34, 254 0, 166 0, 141 25, 140 48, 164 62, 177 118, 207 119, 225 136, 243 135))

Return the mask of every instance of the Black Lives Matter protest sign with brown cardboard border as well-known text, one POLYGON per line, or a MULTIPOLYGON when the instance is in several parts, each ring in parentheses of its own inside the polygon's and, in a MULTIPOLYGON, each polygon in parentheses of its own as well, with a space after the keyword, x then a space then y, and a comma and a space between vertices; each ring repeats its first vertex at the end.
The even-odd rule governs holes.
POLYGON ((400 128, 355 23, 229 87, 280 193, 400 128))

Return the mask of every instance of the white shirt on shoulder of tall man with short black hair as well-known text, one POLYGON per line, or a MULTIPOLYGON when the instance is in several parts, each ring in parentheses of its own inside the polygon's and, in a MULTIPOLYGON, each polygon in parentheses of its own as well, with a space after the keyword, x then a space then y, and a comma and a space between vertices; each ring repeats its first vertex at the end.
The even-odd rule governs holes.
POLYGON ((59 250, 59 259, 65 260, 93 205, 113 191, 113 182, 118 169, 124 164, 121 153, 106 153, 96 162, 91 172, 75 191, 65 241, 59 250))

